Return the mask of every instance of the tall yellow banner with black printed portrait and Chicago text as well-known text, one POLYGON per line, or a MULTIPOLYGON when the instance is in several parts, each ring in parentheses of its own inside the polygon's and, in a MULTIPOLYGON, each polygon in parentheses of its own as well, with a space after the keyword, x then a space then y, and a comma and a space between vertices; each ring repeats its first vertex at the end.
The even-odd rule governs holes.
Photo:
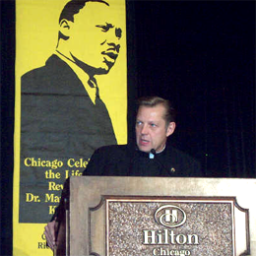
POLYGON ((14 255, 52 255, 64 180, 127 138, 125 0, 17 0, 14 255))

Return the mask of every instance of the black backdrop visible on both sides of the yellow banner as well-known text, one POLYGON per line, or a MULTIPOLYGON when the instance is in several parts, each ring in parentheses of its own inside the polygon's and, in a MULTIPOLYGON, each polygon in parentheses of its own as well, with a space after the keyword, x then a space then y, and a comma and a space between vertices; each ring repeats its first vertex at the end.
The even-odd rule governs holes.
MULTIPOLYGON (((0 2, 0 248, 12 250, 15 3, 0 2)), ((256 177, 254 0, 127 0, 129 140, 135 98, 178 111, 171 143, 208 176, 256 177)))

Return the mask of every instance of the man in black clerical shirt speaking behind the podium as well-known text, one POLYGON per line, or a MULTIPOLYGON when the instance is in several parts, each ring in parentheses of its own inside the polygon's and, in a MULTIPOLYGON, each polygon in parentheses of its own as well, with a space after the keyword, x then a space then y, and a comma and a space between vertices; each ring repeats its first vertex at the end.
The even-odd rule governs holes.
MULTIPOLYGON (((136 117, 136 146, 105 146, 94 153, 84 175, 114 176, 203 176, 200 164, 167 144, 174 132, 175 110, 168 100, 152 96, 139 100, 136 117)), ((63 198, 69 194, 68 182, 63 198)), ((55 245, 55 230, 63 212, 60 206, 53 221, 45 226, 45 235, 51 248, 55 245)))

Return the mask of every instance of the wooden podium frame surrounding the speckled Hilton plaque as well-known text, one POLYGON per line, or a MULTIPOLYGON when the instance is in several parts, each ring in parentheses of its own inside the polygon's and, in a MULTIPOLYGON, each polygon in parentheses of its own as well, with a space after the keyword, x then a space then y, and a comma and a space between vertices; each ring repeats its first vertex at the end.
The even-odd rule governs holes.
POLYGON ((256 179, 73 177, 70 200, 66 202, 64 220, 59 224, 54 256, 111 255, 107 246, 109 200, 121 203, 231 204, 231 255, 254 255, 255 192, 256 179))

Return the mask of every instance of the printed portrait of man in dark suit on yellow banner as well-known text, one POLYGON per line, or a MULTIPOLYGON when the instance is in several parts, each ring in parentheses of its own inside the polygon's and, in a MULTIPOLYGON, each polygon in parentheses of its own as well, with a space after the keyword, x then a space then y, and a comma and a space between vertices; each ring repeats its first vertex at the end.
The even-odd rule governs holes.
POLYGON ((85 168, 65 166, 67 160, 85 162, 96 148, 116 144, 97 85, 97 76, 108 74, 120 51, 122 30, 116 21, 107 1, 68 2, 60 14, 55 52, 43 67, 22 76, 20 222, 47 220, 47 207, 35 217, 26 204, 28 192, 43 198, 49 189, 45 171, 50 163, 39 162, 62 161, 63 181, 67 167, 70 172, 85 168))

